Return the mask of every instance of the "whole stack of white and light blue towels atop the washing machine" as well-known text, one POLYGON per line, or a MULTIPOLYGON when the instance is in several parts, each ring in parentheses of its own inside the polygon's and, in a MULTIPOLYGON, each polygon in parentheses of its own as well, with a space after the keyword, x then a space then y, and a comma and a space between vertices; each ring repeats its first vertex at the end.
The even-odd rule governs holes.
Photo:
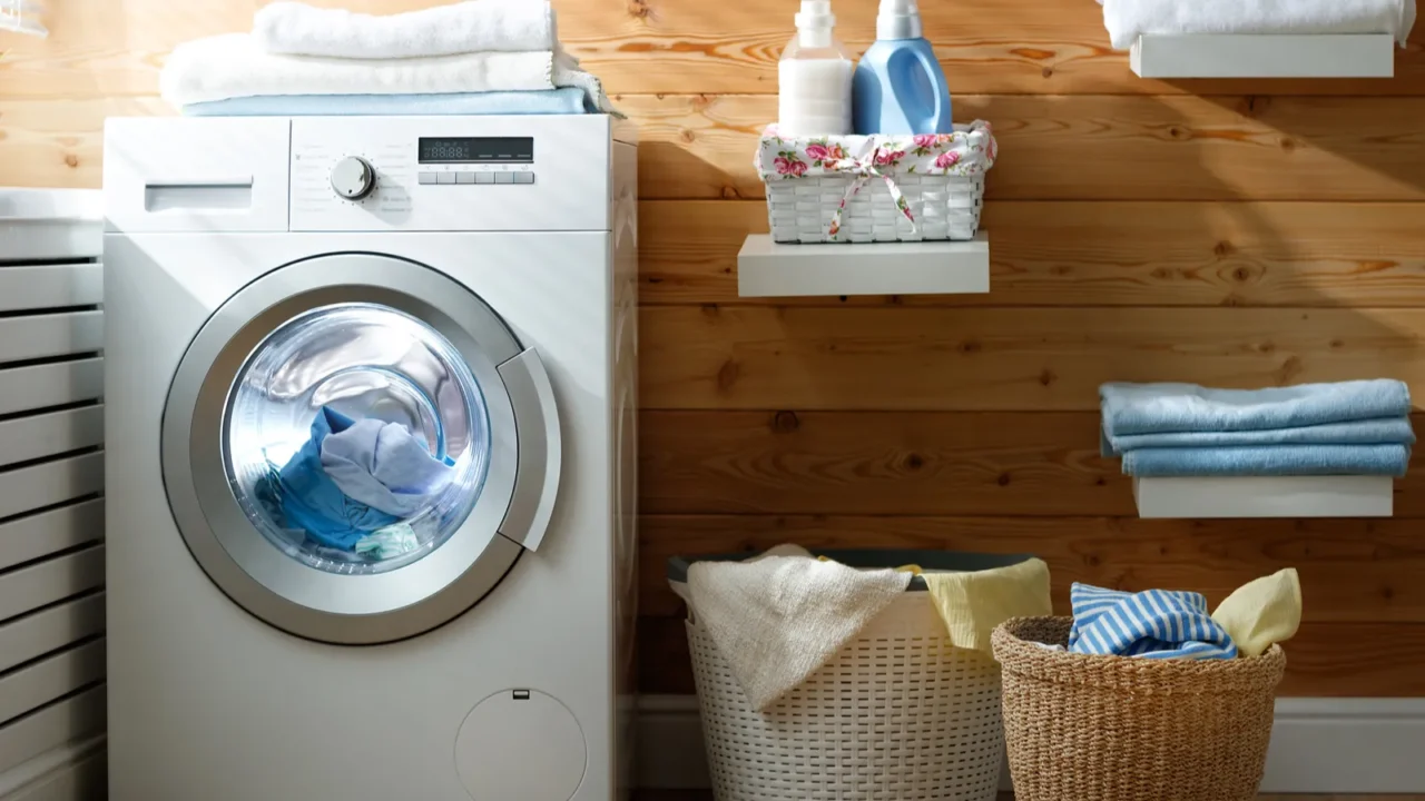
POLYGON ((175 48, 160 84, 187 115, 617 114, 547 0, 386 17, 272 3, 252 33, 175 48))

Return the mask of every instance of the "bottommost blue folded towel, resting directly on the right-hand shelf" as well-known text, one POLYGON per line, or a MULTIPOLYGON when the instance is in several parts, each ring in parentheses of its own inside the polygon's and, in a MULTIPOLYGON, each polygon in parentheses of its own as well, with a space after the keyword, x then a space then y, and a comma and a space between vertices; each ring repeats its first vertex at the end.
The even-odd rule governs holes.
POLYGON ((1130 476, 1404 476, 1405 445, 1143 448, 1123 455, 1130 476))

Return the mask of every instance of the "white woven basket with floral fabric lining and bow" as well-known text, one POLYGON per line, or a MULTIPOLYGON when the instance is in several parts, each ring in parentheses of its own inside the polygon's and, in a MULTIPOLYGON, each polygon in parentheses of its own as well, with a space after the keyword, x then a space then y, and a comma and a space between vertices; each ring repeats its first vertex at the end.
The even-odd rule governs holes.
POLYGON ((975 238, 995 158, 983 121, 921 137, 781 137, 774 125, 755 165, 775 242, 918 242, 975 238))

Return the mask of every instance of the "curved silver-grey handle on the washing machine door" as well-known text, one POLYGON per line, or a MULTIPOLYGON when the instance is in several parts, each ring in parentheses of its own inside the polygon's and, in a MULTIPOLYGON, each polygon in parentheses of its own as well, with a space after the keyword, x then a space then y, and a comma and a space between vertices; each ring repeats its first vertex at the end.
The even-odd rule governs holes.
POLYGON ((500 534, 529 550, 539 547, 554 512, 563 442, 554 388, 539 353, 529 348, 499 366, 514 409, 519 442, 514 492, 500 534))

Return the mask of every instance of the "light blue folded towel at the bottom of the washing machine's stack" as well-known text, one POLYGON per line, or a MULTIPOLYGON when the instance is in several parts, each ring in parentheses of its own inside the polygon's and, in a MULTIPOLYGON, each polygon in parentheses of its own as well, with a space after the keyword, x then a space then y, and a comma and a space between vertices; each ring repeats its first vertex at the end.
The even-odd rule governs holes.
POLYGON ((597 114, 579 87, 453 94, 265 94, 190 103, 184 117, 597 114))

